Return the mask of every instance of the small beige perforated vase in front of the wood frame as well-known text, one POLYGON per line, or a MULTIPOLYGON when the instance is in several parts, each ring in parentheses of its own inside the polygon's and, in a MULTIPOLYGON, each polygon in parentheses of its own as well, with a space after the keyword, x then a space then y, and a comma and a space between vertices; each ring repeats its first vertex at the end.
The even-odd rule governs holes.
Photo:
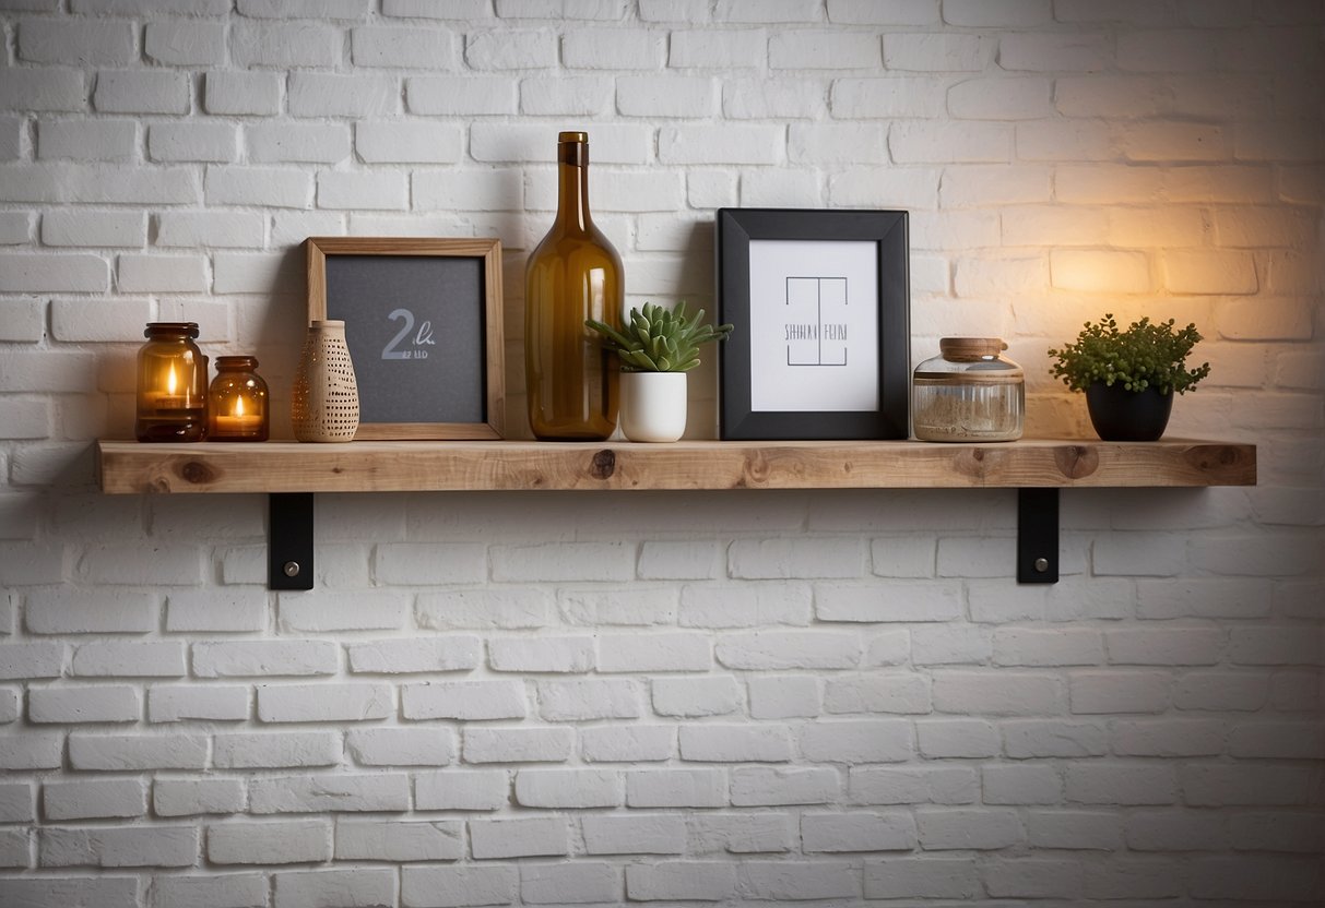
POLYGON ((359 385, 344 343, 344 322, 309 323, 290 414, 298 441, 354 441, 359 429, 359 385))

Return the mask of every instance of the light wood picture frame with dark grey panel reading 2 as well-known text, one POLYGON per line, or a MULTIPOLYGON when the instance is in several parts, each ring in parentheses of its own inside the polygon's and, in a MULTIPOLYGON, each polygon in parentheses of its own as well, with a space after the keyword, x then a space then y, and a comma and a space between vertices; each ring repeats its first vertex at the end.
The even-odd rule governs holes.
POLYGON ((309 319, 341 319, 356 439, 498 439, 505 430, 501 242, 309 237, 309 319))

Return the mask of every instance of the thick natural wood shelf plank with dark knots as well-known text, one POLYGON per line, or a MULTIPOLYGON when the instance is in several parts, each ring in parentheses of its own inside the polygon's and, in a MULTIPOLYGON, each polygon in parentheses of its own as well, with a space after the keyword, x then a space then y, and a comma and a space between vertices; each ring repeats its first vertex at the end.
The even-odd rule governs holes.
POLYGON ((103 492, 1075 488, 1256 484, 1256 446, 1216 441, 1010 443, 362 441, 97 443, 103 492))

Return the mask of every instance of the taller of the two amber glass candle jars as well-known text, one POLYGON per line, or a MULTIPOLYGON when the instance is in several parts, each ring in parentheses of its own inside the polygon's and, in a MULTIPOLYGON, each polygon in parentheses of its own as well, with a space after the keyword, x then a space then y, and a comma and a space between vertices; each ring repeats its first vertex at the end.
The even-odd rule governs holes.
POLYGON ((203 441, 207 435, 207 357, 196 322, 151 322, 138 351, 138 441, 203 441))

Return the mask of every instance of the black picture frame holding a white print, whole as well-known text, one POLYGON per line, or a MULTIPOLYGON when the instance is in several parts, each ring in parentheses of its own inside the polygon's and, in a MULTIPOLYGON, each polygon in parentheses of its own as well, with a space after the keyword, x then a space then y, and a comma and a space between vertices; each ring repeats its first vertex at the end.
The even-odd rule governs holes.
POLYGON ((717 213, 723 439, 909 434, 908 213, 717 213))

